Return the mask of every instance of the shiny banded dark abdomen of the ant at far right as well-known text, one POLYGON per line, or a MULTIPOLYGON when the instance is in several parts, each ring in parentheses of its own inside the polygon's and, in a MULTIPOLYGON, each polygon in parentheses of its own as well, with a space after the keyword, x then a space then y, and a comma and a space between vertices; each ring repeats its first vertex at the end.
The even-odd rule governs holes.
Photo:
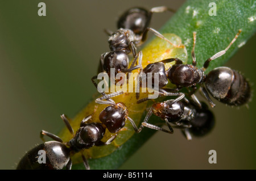
POLYGON ((205 87, 215 99, 230 106, 246 104, 251 96, 251 87, 246 78, 228 67, 210 71, 205 78, 205 87))

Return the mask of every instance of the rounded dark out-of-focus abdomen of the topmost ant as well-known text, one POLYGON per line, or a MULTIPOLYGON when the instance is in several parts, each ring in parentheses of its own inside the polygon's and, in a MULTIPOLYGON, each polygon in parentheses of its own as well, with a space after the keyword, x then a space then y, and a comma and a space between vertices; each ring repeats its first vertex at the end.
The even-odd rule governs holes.
POLYGON ((117 27, 130 29, 137 35, 141 35, 148 27, 151 14, 142 8, 127 10, 118 20, 117 27))

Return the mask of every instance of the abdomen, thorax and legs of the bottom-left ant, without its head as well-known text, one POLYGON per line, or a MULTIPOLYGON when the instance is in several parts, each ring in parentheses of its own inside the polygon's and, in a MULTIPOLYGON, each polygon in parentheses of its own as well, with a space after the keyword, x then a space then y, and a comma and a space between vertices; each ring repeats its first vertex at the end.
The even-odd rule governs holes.
MULTIPOLYGON (((28 151, 20 160, 16 169, 61 170, 66 167, 66 169, 70 170, 72 167, 72 154, 84 149, 89 149, 94 145, 103 146, 110 144, 114 140, 115 136, 110 137, 106 142, 102 142, 101 139, 104 137, 106 126, 102 123, 86 123, 86 121, 91 118, 92 115, 85 117, 81 121, 80 128, 75 134, 69 124, 68 118, 65 115, 61 115, 61 119, 63 119, 69 132, 73 135, 73 138, 68 142, 63 142, 63 140, 55 134, 44 130, 41 131, 40 137, 43 141, 44 135, 51 137, 55 141, 44 142, 44 144, 40 144, 28 151), (39 163, 39 150, 46 151, 46 163, 39 163)), ((81 155, 85 169, 89 170, 90 167, 84 154, 81 153, 81 155)))

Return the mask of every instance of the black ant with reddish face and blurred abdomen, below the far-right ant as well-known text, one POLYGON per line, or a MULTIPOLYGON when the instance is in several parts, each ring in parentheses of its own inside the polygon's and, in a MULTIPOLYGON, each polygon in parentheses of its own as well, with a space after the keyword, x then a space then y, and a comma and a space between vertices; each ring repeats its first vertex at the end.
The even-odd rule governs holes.
POLYGON ((195 136, 204 136, 213 128, 214 116, 213 113, 208 110, 205 103, 201 103, 201 105, 201 107, 197 107, 183 101, 174 102, 174 100, 154 103, 147 112, 142 122, 141 129, 147 127, 166 133, 174 133, 170 125, 170 123, 172 123, 175 128, 181 129, 187 140, 192 139, 190 133, 195 136), (152 113, 163 119, 169 130, 147 123, 152 113))

